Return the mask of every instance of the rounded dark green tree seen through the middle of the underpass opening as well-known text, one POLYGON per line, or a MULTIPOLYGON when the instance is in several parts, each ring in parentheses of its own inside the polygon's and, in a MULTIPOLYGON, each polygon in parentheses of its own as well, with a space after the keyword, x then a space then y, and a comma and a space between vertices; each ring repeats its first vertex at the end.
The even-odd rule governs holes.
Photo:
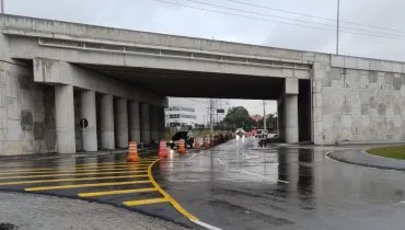
POLYGON ((253 126, 253 120, 251 119, 248 112, 243 106, 231 107, 223 122, 228 127, 232 128, 243 128, 248 130, 253 126))

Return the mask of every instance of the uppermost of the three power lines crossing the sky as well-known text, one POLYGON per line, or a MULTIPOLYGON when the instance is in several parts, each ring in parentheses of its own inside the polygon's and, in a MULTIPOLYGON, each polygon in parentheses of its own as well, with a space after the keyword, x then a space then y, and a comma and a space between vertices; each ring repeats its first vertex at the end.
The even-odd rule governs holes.
MULTIPOLYGON (((316 18, 316 19, 327 20, 327 21, 331 21, 331 22, 336 22, 335 19, 324 18, 324 16, 316 16, 316 15, 311 15, 311 14, 306 14, 306 13, 298 13, 298 12, 293 12, 293 11, 270 8, 270 7, 263 5, 263 4, 254 4, 254 3, 248 3, 248 2, 239 1, 239 0, 225 0, 225 1, 234 2, 234 3, 239 3, 239 4, 244 4, 244 5, 251 5, 251 7, 255 7, 255 8, 259 8, 259 9, 268 9, 268 10, 279 11, 279 12, 284 12, 284 13, 290 13, 290 14, 296 14, 296 15, 301 15, 301 16, 310 16, 310 18, 316 18)), ((359 25, 359 26, 379 28, 379 30, 384 30, 384 31, 392 31, 392 32, 405 33, 405 31, 401 31, 401 30, 384 28, 384 27, 380 27, 380 26, 375 26, 375 25, 362 24, 362 23, 358 23, 358 22, 350 22, 350 21, 340 21, 340 22, 344 22, 344 23, 347 23, 347 24, 352 24, 352 25, 359 25)))

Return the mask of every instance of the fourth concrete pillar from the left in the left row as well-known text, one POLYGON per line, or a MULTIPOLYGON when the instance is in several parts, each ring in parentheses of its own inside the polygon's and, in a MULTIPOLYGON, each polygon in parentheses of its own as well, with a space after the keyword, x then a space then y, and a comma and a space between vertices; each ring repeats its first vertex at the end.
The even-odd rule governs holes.
POLYGON ((115 103, 116 114, 115 114, 115 134, 117 148, 127 148, 128 147, 128 110, 127 110, 127 100, 118 99, 115 103))

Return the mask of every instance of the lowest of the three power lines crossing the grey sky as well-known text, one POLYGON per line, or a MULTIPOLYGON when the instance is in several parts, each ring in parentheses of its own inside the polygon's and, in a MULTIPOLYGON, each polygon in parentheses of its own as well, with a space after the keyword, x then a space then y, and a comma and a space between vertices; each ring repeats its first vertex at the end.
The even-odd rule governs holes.
MULTIPOLYGON (((257 20, 257 21, 273 22, 273 23, 286 24, 286 25, 293 25, 293 26, 300 26, 300 27, 308 27, 308 28, 315 28, 315 30, 320 30, 320 31, 331 31, 331 32, 335 32, 336 31, 336 30, 332 30, 332 28, 316 27, 316 26, 302 25, 302 24, 293 24, 293 23, 288 23, 288 22, 261 19, 261 18, 242 15, 242 14, 230 13, 230 12, 223 12, 223 11, 218 11, 218 10, 209 10, 209 9, 205 9, 205 8, 198 8, 198 7, 182 4, 182 3, 178 3, 178 2, 170 2, 170 1, 165 1, 165 0, 155 0, 155 1, 163 2, 163 3, 166 3, 166 4, 173 4, 173 5, 177 5, 177 7, 185 7, 185 8, 197 9, 197 10, 207 11, 207 12, 213 12, 213 13, 232 15, 232 16, 240 16, 240 18, 245 18, 245 19, 251 19, 251 20, 257 20)), ((364 36, 370 36, 370 37, 381 37, 381 38, 387 38, 387 39, 404 39, 404 38, 400 38, 400 37, 390 37, 390 36, 379 36, 379 35, 373 35, 373 34, 356 33, 356 32, 350 32, 350 31, 347 31, 347 30, 346 31, 339 31, 339 33, 364 35, 364 36)), ((352 28, 352 30, 356 30, 356 28, 352 28)), ((368 33, 372 33, 372 32, 368 32, 368 33)), ((389 35, 391 35, 391 34, 389 34, 389 35)))

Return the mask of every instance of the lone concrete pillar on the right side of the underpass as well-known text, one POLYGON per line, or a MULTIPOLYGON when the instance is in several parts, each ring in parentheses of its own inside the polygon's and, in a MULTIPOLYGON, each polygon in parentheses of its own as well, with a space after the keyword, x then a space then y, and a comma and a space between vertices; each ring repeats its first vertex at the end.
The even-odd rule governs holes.
POLYGON ((286 94, 284 103, 286 142, 294 143, 298 142, 298 95, 286 94))

